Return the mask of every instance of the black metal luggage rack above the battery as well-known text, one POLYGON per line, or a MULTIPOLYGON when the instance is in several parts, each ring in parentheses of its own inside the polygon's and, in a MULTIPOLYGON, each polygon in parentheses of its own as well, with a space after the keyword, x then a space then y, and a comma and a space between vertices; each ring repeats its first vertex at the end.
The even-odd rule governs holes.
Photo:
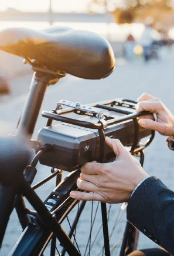
POLYGON ((135 112, 135 105, 137 104, 136 101, 132 101, 130 99, 118 98, 112 99, 111 101, 104 101, 98 102, 92 105, 82 105, 80 102, 70 102, 66 100, 61 100, 57 103, 56 109, 52 111, 43 111, 42 116, 48 118, 47 126, 52 125, 52 121, 61 121, 67 124, 73 124, 80 127, 90 128, 90 129, 98 129, 98 134, 100 135, 100 162, 104 161, 104 142, 105 142, 105 135, 104 129, 107 128, 109 125, 118 124, 120 122, 127 121, 129 119, 133 119, 134 121, 134 142, 131 147, 131 154, 138 155, 138 152, 142 151, 146 148, 154 138, 155 131, 151 131, 151 137, 147 139, 145 144, 139 145, 138 144, 138 134, 139 134, 139 125, 137 121, 137 117, 141 117, 142 115, 149 114, 148 111, 141 111, 135 112), (63 105, 67 107, 63 110, 63 105), (124 114, 122 117, 114 118, 108 117, 104 115, 101 109, 105 109, 112 112, 117 112, 124 114), (90 117, 95 117, 98 119, 98 122, 88 122, 88 121, 81 121, 80 119, 73 119, 69 117, 63 117, 62 115, 75 113, 78 115, 88 115, 90 117))

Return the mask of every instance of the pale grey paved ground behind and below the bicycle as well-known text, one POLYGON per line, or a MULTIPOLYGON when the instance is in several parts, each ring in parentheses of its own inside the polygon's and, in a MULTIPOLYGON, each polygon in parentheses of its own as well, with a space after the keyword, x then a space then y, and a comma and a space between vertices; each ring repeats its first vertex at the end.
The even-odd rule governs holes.
MULTIPOLYGON (((141 60, 125 62, 122 59, 118 59, 112 75, 100 81, 89 81, 67 75, 62 81, 60 79, 56 85, 47 88, 42 110, 53 109, 56 106, 56 102, 60 99, 79 101, 87 104, 117 97, 137 99, 142 92, 148 92, 161 98, 170 111, 174 113, 173 68, 174 52, 163 48, 159 61, 151 61, 147 64, 141 60)), ((16 78, 12 82, 12 87, 19 86, 22 88, 23 84, 25 84, 25 90, 27 91, 30 78, 31 75, 16 78), (26 86, 26 84, 28 85, 26 86)), ((15 127, 21 115, 25 99, 25 93, 22 96, 13 95, 13 97, 0 98, 1 134, 15 132, 15 127)), ((39 117, 33 138, 36 138, 37 131, 45 125, 45 118, 39 117)), ((149 175, 155 175, 161 178, 170 189, 174 189, 173 166, 173 152, 169 151, 166 147, 165 137, 156 133, 152 144, 145 149, 145 171, 149 175)), ((41 169, 40 165, 38 165, 37 169, 39 178, 45 176, 46 172, 49 171, 47 167, 41 169)), ((44 188, 44 190, 38 189, 38 193, 42 199, 45 199, 49 192, 49 188, 44 188)), ((6 230, 0 256, 8 255, 20 232, 21 227, 18 221, 16 221, 15 212, 13 212, 8 229, 6 230)), ((140 235, 138 248, 151 248, 155 246, 144 235, 140 235)))

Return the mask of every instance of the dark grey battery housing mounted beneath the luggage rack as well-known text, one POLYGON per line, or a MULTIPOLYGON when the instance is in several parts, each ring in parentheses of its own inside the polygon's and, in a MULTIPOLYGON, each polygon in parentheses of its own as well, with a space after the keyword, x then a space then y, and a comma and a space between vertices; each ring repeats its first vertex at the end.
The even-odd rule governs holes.
MULTIPOLYGON (((110 125, 104 129, 104 134, 110 138, 120 139, 124 146, 131 146, 135 137, 134 122, 127 120, 110 125)), ((151 135, 151 130, 139 127, 139 140, 148 135, 151 135)), ((99 161, 100 158, 100 136, 97 129, 60 123, 40 129, 37 141, 42 145, 53 145, 53 151, 46 152, 40 157, 40 164, 49 167, 74 171, 86 162, 99 161)), ((114 152, 105 144, 105 160, 114 158, 114 152)))

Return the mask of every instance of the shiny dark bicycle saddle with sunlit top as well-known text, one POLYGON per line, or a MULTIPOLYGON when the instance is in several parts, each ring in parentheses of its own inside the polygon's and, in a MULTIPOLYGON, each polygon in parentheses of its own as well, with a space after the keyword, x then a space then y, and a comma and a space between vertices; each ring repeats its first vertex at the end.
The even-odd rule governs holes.
POLYGON ((33 67, 59 69, 86 79, 107 77, 115 64, 111 45, 103 36, 62 26, 42 31, 5 29, 0 32, 0 49, 27 59, 33 67))

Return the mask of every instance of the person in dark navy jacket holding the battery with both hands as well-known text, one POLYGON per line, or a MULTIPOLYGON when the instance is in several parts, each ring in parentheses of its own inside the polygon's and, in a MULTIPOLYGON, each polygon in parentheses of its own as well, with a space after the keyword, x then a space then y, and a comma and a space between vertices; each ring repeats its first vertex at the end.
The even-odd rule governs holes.
MULTIPOLYGON (((138 112, 144 110, 156 114, 156 120, 152 115, 147 115, 139 118, 139 125, 167 136, 168 147, 174 150, 173 114, 160 99, 146 93, 138 98, 137 104, 138 112)), ((165 248, 134 251, 129 256, 174 255, 174 192, 160 179, 150 177, 118 139, 106 137, 105 142, 115 152, 115 161, 84 164, 77 186, 93 193, 71 191, 70 196, 77 200, 97 200, 110 204, 128 202, 127 220, 165 248)))

